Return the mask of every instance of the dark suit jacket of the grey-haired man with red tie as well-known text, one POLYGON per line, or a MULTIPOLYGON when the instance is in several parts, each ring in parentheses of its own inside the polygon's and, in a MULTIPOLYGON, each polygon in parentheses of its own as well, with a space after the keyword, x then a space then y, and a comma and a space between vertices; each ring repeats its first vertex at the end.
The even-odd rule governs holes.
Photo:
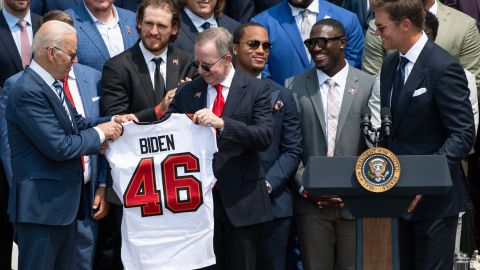
MULTIPOLYGON (((195 113, 207 106, 207 83, 199 77, 180 86, 169 112, 195 113)), ((272 142, 268 84, 236 71, 222 113, 225 121, 213 171, 225 212, 235 227, 272 219, 260 151, 272 142)))

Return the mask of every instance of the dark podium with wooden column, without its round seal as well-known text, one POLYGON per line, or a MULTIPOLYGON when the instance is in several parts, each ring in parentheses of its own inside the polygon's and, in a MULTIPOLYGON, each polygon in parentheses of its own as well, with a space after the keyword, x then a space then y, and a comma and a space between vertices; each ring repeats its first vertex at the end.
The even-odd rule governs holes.
POLYGON ((452 187, 445 156, 397 156, 401 175, 397 185, 383 193, 364 189, 355 176, 357 157, 310 157, 303 185, 312 195, 339 195, 356 218, 357 270, 397 270, 397 217, 417 194, 445 194, 452 187))

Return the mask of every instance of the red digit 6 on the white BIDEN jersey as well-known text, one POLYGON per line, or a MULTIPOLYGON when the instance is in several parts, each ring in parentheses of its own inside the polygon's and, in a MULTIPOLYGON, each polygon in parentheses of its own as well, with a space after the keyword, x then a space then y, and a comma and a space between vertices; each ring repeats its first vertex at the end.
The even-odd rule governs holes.
POLYGON ((191 153, 180 153, 163 160, 165 207, 172 213, 193 212, 203 203, 202 183, 193 175, 178 176, 180 168, 184 173, 199 172, 198 158, 191 153))

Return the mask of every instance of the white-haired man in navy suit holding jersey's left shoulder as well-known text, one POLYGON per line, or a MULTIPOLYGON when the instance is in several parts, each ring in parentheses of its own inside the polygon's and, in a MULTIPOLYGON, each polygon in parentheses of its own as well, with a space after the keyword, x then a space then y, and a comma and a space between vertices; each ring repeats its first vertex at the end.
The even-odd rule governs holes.
MULTIPOLYGON (((77 113, 59 83, 77 61, 75 29, 42 25, 35 59, 11 88, 6 118, 12 185, 8 213, 15 224, 19 269, 72 269, 76 219, 85 214, 81 156, 104 149, 121 134, 110 118, 77 113)), ((127 117, 113 117, 117 121, 127 117)))

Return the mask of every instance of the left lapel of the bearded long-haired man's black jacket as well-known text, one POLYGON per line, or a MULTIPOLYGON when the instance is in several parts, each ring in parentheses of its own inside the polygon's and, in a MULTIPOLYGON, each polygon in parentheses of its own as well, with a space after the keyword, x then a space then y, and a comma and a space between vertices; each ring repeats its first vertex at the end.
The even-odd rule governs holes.
POLYGON ((145 63, 145 58, 143 57, 142 51, 140 50, 139 43, 135 44, 131 49, 130 55, 127 57, 127 60, 131 62, 133 69, 137 73, 137 76, 140 79, 140 82, 143 86, 143 89, 131 89, 131 91, 143 91, 147 96, 147 99, 151 101, 150 105, 155 105, 155 93, 153 92, 152 79, 150 78, 150 72, 148 71, 147 63, 145 63))

